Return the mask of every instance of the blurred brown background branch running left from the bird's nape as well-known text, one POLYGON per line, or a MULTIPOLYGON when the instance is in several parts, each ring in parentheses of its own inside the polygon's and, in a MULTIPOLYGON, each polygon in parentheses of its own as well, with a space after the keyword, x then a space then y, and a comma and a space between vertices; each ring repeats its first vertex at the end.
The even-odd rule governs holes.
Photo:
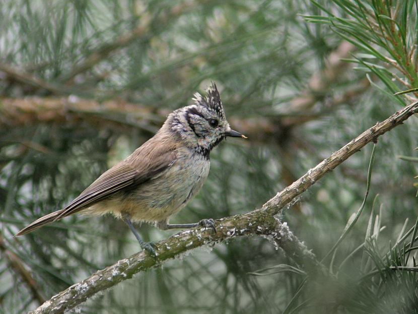
POLYGON ((78 97, 26 97, 0 100, 0 130, 36 123, 80 123, 88 121, 98 128, 111 127, 126 131, 126 126, 155 133, 166 110, 144 107, 124 101, 80 99, 78 97))

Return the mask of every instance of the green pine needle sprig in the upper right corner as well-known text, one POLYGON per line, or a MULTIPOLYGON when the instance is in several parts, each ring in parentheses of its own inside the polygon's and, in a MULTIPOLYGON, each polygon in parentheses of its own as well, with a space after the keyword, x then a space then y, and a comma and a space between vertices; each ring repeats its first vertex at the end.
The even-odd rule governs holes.
MULTIPOLYGON (((335 15, 325 6, 313 1, 326 16, 304 16, 307 21, 331 26, 345 40, 361 49, 354 61, 375 74, 386 88, 394 93, 399 88, 392 82, 395 78, 408 89, 416 87, 416 43, 418 27, 416 1, 338 0, 333 2, 340 10, 335 15), (369 59, 377 58, 395 68, 394 71, 379 66, 369 59)), ((385 92, 385 90, 382 90, 385 92)), ((386 92, 387 93, 387 92, 386 92)))

